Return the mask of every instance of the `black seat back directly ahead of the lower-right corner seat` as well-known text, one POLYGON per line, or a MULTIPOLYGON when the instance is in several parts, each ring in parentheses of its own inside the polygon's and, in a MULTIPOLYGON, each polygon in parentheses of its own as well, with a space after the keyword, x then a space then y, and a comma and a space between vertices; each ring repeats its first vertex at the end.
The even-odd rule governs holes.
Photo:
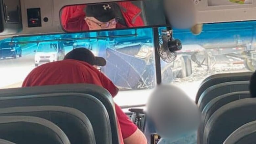
POLYGON ((256 98, 228 103, 212 114, 205 125, 203 144, 222 144, 240 126, 256 120, 256 98))

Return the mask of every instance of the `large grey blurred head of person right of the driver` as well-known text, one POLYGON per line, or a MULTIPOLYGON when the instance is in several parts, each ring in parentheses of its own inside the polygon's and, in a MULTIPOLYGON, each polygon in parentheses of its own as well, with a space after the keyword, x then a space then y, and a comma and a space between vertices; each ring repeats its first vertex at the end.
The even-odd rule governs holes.
POLYGON ((149 118, 162 138, 179 139, 198 130, 201 115, 197 105, 174 85, 160 85, 147 103, 149 118))

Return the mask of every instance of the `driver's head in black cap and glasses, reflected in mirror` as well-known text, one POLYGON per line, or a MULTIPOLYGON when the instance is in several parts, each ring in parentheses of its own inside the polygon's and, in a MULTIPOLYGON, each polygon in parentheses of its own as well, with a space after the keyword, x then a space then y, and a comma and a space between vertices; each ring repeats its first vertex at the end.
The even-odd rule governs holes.
POLYGON ((115 4, 92 4, 85 8, 89 30, 115 29, 118 21, 115 4))

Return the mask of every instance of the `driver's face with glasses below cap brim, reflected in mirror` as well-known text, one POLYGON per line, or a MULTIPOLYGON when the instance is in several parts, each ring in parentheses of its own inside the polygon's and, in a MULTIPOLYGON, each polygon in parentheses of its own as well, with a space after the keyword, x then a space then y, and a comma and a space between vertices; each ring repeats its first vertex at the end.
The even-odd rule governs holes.
POLYGON ((86 17, 85 21, 89 30, 115 29, 117 25, 116 18, 105 23, 98 21, 95 17, 86 17))

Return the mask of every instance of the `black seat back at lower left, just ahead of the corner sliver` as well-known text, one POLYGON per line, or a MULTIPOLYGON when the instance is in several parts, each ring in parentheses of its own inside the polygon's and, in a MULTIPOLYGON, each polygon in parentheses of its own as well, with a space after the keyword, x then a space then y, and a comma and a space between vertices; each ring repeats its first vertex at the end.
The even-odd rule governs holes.
POLYGON ((70 144, 58 126, 33 116, 0 116, 0 138, 17 144, 70 144))

